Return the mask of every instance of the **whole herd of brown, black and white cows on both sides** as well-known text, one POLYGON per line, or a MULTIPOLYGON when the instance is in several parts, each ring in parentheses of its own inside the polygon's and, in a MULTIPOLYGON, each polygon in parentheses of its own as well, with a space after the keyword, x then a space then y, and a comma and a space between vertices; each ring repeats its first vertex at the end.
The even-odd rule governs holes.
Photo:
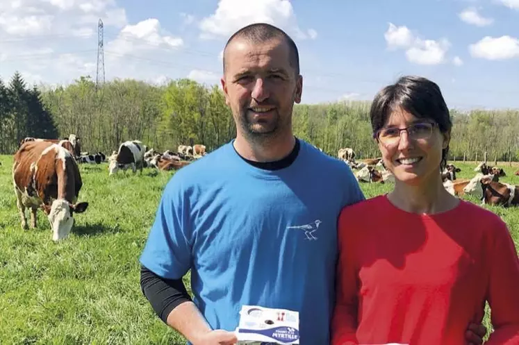
MULTIPOLYGON (((321 150, 322 151, 322 150, 321 150)), ((14 155, 13 185, 17 198, 17 208, 22 220, 22 228, 28 229, 25 211, 31 209, 31 227, 36 227, 38 209, 47 214, 52 229, 52 239, 66 238, 74 225, 74 213, 85 212, 88 202, 77 203, 83 186, 79 164, 101 164, 108 161, 108 174, 131 169, 142 172, 145 167, 160 170, 176 170, 206 155, 206 146, 180 145, 176 152, 157 152, 148 149, 138 140, 120 144, 117 151, 106 158, 101 152, 90 154, 81 152, 80 137, 71 134, 66 139, 39 139, 26 137, 20 142, 14 155)), ((353 149, 338 151, 338 159, 343 160, 356 176, 359 183, 394 183, 395 176, 384 166, 381 158, 356 160, 353 149)), ((515 185, 501 183, 506 176, 503 169, 489 167, 481 162, 471 179, 457 179, 461 169, 447 165, 441 176, 445 189, 453 195, 475 195, 481 203, 490 205, 519 205, 519 190, 515 185)), ((519 171, 516 171, 519 175, 519 171)))

